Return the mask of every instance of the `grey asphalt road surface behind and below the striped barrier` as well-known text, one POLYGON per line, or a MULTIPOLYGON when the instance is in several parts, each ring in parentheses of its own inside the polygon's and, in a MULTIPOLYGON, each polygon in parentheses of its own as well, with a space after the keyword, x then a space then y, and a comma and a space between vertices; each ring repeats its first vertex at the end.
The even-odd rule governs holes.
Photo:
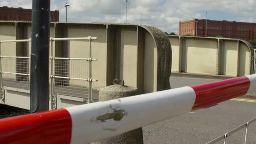
MULTIPOLYGON (((171 77, 171 87, 178 88, 211 81, 216 80, 171 77)), ((254 117, 255 99, 229 100, 143 127, 144 144, 205 144, 254 117)), ((245 128, 228 137, 226 144, 243 144, 244 138, 245 128)), ((248 128, 247 144, 256 144, 256 124, 251 124, 248 128)))

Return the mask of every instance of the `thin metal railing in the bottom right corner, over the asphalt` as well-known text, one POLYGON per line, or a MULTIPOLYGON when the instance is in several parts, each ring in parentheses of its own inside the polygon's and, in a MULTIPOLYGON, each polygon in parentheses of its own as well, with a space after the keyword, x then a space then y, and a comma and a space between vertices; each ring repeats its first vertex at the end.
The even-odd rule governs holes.
POLYGON ((208 143, 206 144, 215 144, 216 142, 219 142, 221 140, 224 139, 224 144, 226 144, 226 139, 231 136, 233 133, 236 133, 237 131, 243 129, 243 128, 246 128, 245 129, 245 141, 244 141, 244 144, 246 144, 246 139, 247 139, 247 134, 248 134, 248 126, 253 124, 254 122, 256 122, 256 117, 253 118, 252 120, 249 120, 248 122, 244 123, 243 125, 240 125, 238 126, 237 128, 234 128, 233 130, 227 132, 227 133, 224 133, 223 135, 217 137, 216 139, 213 139, 212 141, 209 141, 208 143))

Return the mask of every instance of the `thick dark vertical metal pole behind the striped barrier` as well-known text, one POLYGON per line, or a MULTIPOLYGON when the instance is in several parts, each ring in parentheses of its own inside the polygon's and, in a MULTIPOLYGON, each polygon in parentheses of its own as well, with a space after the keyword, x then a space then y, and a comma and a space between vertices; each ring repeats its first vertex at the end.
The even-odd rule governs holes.
POLYGON ((32 1, 30 111, 49 110, 50 0, 32 1))

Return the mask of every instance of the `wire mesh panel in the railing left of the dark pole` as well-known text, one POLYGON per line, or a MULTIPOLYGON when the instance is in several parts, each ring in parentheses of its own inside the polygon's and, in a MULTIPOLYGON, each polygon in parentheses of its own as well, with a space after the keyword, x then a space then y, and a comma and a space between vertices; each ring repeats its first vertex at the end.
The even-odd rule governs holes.
POLYGON ((2 58, 3 85, 13 88, 30 89, 29 58, 2 58))

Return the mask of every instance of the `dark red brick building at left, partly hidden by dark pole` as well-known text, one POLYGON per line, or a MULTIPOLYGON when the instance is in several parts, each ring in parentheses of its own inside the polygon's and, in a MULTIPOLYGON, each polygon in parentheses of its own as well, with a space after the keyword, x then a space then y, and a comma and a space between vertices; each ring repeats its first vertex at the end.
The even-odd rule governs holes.
MULTIPOLYGON (((0 7, 0 21, 31 21, 32 10, 0 7)), ((51 11, 51 21, 59 21, 59 11, 51 11)))

